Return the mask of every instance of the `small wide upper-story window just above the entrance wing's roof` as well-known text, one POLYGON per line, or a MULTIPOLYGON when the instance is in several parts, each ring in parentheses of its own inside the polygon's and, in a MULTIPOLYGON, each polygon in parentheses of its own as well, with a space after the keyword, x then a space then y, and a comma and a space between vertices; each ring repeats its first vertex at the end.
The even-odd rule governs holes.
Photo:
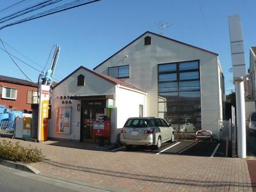
POLYGON ((115 78, 129 78, 130 76, 130 66, 122 65, 117 67, 109 67, 108 75, 115 78))

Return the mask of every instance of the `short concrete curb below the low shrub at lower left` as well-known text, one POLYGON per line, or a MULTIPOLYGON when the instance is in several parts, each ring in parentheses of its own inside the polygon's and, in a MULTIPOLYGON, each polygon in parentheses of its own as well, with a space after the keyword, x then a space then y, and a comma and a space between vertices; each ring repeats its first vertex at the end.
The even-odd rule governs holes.
POLYGON ((30 166, 29 164, 15 163, 13 161, 7 161, 7 160, 3 160, 3 159, 0 159, 0 164, 3 166, 8 166, 8 167, 16 169, 16 170, 22 170, 24 172, 35 173, 36 175, 41 173, 39 170, 37 170, 33 166, 30 166))

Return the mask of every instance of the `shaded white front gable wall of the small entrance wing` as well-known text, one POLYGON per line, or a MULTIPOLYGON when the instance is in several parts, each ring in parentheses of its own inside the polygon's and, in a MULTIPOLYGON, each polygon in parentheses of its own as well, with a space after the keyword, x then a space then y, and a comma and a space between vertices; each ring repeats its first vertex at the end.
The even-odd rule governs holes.
POLYGON ((49 130, 50 138, 61 138, 67 140, 80 140, 81 129, 81 111, 77 111, 77 104, 81 104, 80 100, 72 100, 72 104, 62 104, 62 100, 57 99, 60 95, 113 95, 115 93, 115 85, 108 81, 95 76, 91 72, 84 69, 77 70, 72 76, 68 77, 61 84, 52 90, 52 113, 51 113, 51 129, 49 130), (77 86, 77 76, 82 74, 85 77, 85 86, 77 86), (56 132, 56 110, 58 107, 71 106, 71 128, 70 134, 56 132))

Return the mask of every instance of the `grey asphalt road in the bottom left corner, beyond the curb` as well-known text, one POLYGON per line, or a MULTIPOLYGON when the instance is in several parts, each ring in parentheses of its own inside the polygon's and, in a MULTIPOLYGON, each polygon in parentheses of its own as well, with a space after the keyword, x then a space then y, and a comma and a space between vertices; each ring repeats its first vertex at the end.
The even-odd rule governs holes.
POLYGON ((63 180, 52 179, 22 172, 13 168, 0 165, 0 191, 4 192, 70 192, 70 191, 104 191, 101 189, 81 186, 63 180))

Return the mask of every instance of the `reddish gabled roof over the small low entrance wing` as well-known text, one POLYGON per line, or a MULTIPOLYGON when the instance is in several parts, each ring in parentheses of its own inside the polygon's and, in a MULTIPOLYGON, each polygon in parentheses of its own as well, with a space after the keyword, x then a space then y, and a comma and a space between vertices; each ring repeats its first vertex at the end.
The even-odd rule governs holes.
MULTIPOLYGON (((104 80, 106 80, 106 81, 108 81, 108 82, 110 82, 110 83, 115 84, 115 85, 116 85, 116 84, 120 84, 121 86, 125 86, 125 87, 131 88, 131 89, 133 89, 133 90, 138 90, 138 91, 140 91, 140 92, 145 92, 145 91, 143 91, 143 90, 141 90, 141 89, 139 89, 139 88, 136 88, 135 86, 133 86, 133 85, 131 85, 131 84, 129 84, 129 83, 125 83, 124 81, 122 81, 122 80, 120 80, 120 79, 116 79, 115 77, 107 76, 106 74, 102 74, 102 73, 100 73, 100 72, 95 72, 95 71, 90 70, 89 68, 86 68, 86 67, 83 67, 83 66, 78 67, 76 70, 74 70, 74 72, 72 72, 71 74, 69 74, 69 75, 68 75, 67 77, 65 77, 64 79, 62 79, 62 80, 60 81, 60 83, 56 84, 52 89, 56 88, 59 84, 61 84, 61 83, 62 83, 63 81, 65 81, 68 77, 72 76, 74 73, 76 73, 76 72, 77 72, 78 70, 80 70, 80 69, 86 70, 86 71, 88 71, 88 72, 94 74, 95 76, 98 76, 98 77, 100 77, 100 78, 102 78, 102 79, 104 79, 104 80)), ((147 93, 147 92, 145 92, 145 93, 147 93)))

